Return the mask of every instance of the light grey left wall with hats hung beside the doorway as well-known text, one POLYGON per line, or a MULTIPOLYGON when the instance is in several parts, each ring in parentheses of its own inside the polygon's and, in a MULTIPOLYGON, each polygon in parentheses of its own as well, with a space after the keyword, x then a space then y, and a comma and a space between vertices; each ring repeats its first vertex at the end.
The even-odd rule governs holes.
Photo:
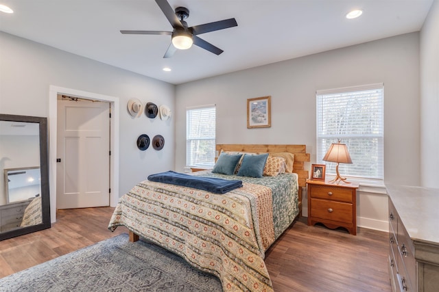
MULTIPOLYGON (((2 114, 48 117, 50 85, 119 98, 119 189, 113 191, 120 196, 147 175, 174 169, 174 118, 166 122, 145 115, 134 119, 126 110, 130 98, 139 98, 143 103, 166 104, 174 111, 174 85, 3 32, 0 64, 2 114), (151 139, 156 134, 163 135, 163 150, 156 151, 150 146, 140 151, 136 142, 143 133, 151 139)), ((56 133, 49 129, 50 135, 56 133)), ((55 193, 51 189, 51 198, 55 193)))

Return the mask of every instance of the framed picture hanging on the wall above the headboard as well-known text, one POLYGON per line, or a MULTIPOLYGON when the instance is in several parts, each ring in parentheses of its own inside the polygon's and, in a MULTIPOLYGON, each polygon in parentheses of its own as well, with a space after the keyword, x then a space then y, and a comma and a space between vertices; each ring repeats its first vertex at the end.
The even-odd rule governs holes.
POLYGON ((247 128, 272 127, 271 96, 247 99, 247 128))

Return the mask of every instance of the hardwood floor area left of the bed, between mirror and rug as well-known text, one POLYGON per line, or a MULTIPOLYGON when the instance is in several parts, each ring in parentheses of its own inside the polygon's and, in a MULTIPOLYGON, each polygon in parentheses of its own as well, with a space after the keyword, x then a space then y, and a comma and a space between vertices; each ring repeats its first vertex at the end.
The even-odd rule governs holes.
POLYGON ((80 248, 128 233, 107 229, 114 208, 58 210, 57 222, 49 229, 0 241, 0 278, 27 269, 80 248))

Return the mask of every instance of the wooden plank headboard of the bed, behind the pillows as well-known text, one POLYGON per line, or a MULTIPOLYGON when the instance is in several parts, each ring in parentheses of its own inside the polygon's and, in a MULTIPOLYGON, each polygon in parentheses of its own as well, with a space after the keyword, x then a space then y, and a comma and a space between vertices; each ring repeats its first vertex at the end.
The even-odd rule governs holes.
POLYGON ((305 162, 309 162, 309 153, 306 145, 293 144, 217 144, 217 155, 223 151, 241 151, 241 152, 290 152, 294 154, 294 170, 298 174, 299 185, 299 210, 302 210, 302 187, 305 187, 309 178, 308 170, 305 170, 305 162))

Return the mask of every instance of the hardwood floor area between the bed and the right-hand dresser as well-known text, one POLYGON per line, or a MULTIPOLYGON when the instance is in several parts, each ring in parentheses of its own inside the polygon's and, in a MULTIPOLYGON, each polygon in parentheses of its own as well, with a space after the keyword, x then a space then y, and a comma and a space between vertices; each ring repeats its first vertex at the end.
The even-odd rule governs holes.
POLYGON ((307 226, 302 217, 265 253, 274 291, 392 291, 388 233, 307 226))

